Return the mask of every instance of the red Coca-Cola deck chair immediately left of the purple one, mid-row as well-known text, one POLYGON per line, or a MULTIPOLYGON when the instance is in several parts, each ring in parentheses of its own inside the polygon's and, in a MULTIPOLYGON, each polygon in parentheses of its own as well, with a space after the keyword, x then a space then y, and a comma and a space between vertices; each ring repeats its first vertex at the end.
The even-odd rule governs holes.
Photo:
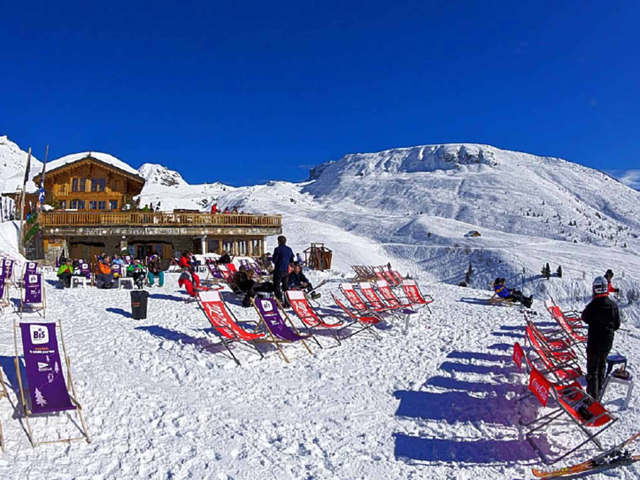
POLYGON ((255 344, 255 340, 261 339, 265 334, 244 330, 244 328, 238 324, 233 312, 227 308, 227 304, 220 295, 220 292, 215 290, 201 291, 198 292, 197 298, 198 305, 200 305, 207 319, 209 319, 209 323, 211 323, 216 334, 220 337, 220 342, 216 345, 225 346, 229 355, 231 355, 231 358, 234 359, 237 365, 240 365, 240 360, 234 355, 233 350, 229 348, 229 345, 234 342, 249 344, 252 346, 252 349, 255 349, 260 355, 260 358, 264 358, 262 352, 260 352, 260 349, 255 344))

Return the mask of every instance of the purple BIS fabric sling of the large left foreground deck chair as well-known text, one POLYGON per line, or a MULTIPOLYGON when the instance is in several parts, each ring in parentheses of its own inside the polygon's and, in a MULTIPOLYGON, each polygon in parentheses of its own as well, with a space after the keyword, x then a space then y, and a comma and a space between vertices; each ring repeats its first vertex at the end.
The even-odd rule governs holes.
POLYGON ((31 412, 74 410, 62 374, 55 323, 20 323, 31 412))

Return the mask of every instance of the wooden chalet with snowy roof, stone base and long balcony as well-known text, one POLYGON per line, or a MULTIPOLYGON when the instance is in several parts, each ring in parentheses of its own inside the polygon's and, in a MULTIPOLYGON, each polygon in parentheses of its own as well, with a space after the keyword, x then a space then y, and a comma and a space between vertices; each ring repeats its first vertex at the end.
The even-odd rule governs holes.
MULTIPOLYGON (((39 185, 40 173, 33 180, 39 185)), ((44 257, 53 264, 62 254, 92 259, 97 253, 125 249, 140 258, 155 252, 173 258, 184 250, 196 255, 223 250, 231 255, 262 255, 265 238, 282 233, 280 215, 129 209, 144 184, 134 168, 99 152, 48 163, 45 204, 53 209, 38 213, 40 233, 33 241, 42 244, 29 249, 37 253, 28 256, 44 257)), ((17 195, 12 196, 19 208, 17 195)), ((37 195, 29 199, 35 204, 37 195)))

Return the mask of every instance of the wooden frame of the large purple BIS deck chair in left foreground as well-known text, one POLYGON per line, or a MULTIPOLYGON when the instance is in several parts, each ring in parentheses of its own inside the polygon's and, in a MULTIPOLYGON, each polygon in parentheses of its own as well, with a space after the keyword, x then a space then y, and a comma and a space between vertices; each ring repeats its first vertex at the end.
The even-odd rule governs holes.
MULTIPOLYGON (((37 324, 39 322, 33 322, 33 323, 37 324)), ((56 322, 50 322, 50 323, 54 323, 56 325, 55 326, 56 330, 60 332, 60 339, 58 340, 58 342, 62 346, 62 351, 60 353, 62 353, 62 355, 64 356, 63 359, 61 358, 62 363, 67 367, 67 393, 72 403, 74 404, 74 406, 76 406, 74 410, 76 410, 76 415, 80 420, 81 432, 83 436, 60 438, 58 440, 43 440, 41 442, 37 442, 35 440, 35 437, 33 435, 33 430, 31 429, 31 422, 29 422, 29 415, 31 415, 32 413, 31 413, 31 410, 29 409, 29 404, 26 400, 27 397, 24 394, 24 383, 22 383, 22 374, 20 374, 20 355, 19 355, 18 345, 20 344, 20 346, 22 346, 22 342, 21 341, 18 342, 18 337, 22 337, 22 333, 20 332, 20 326, 15 323, 15 318, 14 318, 13 319, 13 347, 15 349, 15 359, 13 360, 13 363, 15 367, 15 374, 18 378, 18 386, 20 388, 19 401, 20 401, 20 404, 22 405, 22 412, 24 412, 24 420, 27 425, 29 442, 31 442, 32 447, 37 447, 38 445, 45 445, 45 444, 63 444, 63 443, 78 442, 80 440, 84 440, 88 444, 90 444, 91 438, 89 436, 89 431, 86 428, 86 423, 84 422, 83 408, 80 402, 77 400, 76 387, 74 385, 74 380, 71 374, 71 358, 67 355, 67 346, 65 344, 65 335, 62 330, 62 321, 58 320, 56 322)), ((63 367, 61 366, 61 368, 63 367)))

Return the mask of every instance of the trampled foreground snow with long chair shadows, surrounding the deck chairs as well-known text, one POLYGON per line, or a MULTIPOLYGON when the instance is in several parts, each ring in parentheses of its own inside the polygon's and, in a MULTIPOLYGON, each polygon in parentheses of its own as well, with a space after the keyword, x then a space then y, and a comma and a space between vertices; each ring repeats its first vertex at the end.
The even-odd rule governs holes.
MULTIPOLYGON (((420 314, 406 335, 396 321, 380 327, 380 341, 358 334, 337 348, 311 343, 314 356, 287 346, 298 357, 289 365, 269 346, 262 347, 265 360, 236 349, 243 362, 236 367, 222 350, 207 348, 216 339, 207 337, 196 304, 182 301, 176 280, 170 274, 165 287, 149 289, 148 317, 136 321, 128 291, 61 291, 48 277, 47 317, 65 320, 91 444, 29 445, 14 411, 15 314, 7 310, 0 364, 12 405, 0 402, 3 478, 529 478, 531 466, 541 463, 536 449, 552 454, 579 436, 563 421, 545 430, 536 449, 525 440, 518 424, 540 408, 534 400, 513 402, 525 392, 525 376, 511 361, 524 321, 517 308, 486 305, 487 291, 423 284, 436 298, 433 315, 420 314)), ((337 283, 322 289, 324 312, 335 312, 332 288, 337 283)), ((15 289, 11 296, 17 298, 15 289)), ((241 319, 256 318, 237 301, 231 308, 241 319)), ((549 321, 541 301, 534 310, 536 322, 549 321)), ((614 349, 628 356, 632 370, 639 365, 639 340, 637 328, 616 335, 614 349)), ((618 412, 622 397, 612 388, 607 407, 618 412)), ((636 389, 630 409, 603 435, 605 445, 637 429, 639 401, 636 389)), ((74 431, 70 418, 40 417, 33 426, 36 434, 56 438, 74 431)), ((638 474, 632 467, 615 475, 638 474)))

